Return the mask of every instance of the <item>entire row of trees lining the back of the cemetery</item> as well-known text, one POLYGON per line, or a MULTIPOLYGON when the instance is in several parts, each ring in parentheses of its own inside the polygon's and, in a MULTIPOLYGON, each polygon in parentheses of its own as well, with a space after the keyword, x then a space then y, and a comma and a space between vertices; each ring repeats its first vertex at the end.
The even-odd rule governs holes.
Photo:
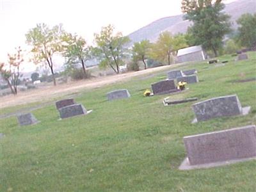
MULTIPOLYGON (((172 35, 165 31, 159 35, 156 43, 148 40, 136 42, 129 49, 129 37, 122 33, 114 33, 113 26, 109 25, 95 33, 95 47, 86 43, 83 37, 68 33, 61 24, 49 28, 46 24, 37 24, 26 34, 26 43, 32 47, 33 63, 46 63, 51 70, 52 80, 56 85, 53 59, 56 55, 67 58, 65 64, 72 70, 77 64, 83 68, 83 77, 88 77, 86 61, 97 58, 100 67, 109 67, 118 74, 120 65, 131 60, 136 65, 143 63, 147 68, 146 60, 155 60, 170 65, 177 50, 190 45, 202 45, 207 51, 218 56, 223 47, 223 38, 231 32, 230 16, 223 12, 222 0, 182 0, 182 12, 185 19, 193 22, 188 33, 172 35)), ((236 43, 244 47, 256 46, 256 14, 245 14, 237 20, 239 28, 234 35, 236 43)), ((229 43, 232 46, 231 43, 229 43)), ((22 50, 17 49, 14 55, 8 54, 9 67, 1 63, 1 74, 13 86, 12 92, 17 93, 17 78, 19 79, 19 66, 23 62, 22 50), (16 87, 16 88, 15 88, 16 87)), ((138 66, 137 66, 138 68, 138 66)))

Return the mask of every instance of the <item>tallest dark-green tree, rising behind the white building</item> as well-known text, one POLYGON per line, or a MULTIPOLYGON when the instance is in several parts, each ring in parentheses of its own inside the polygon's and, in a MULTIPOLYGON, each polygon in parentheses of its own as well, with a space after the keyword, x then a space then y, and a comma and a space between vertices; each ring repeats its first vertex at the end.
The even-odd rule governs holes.
POLYGON ((185 19, 193 21, 193 26, 188 30, 195 45, 212 50, 215 56, 223 46, 223 37, 231 31, 230 16, 222 12, 224 7, 221 0, 182 0, 185 19))

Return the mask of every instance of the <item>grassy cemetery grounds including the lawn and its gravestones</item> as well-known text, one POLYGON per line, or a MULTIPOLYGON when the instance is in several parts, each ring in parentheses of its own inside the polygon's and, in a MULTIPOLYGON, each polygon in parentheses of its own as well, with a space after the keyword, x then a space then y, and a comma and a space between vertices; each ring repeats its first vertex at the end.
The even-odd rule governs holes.
POLYGON ((221 56, 223 67, 170 65, 1 118, 3 191, 253 191, 256 90, 244 79, 255 80, 256 55, 246 54, 221 56), (175 80, 160 81, 170 71, 175 80), (180 92, 179 75, 200 83, 180 92), (154 97, 144 97, 150 85, 154 97))

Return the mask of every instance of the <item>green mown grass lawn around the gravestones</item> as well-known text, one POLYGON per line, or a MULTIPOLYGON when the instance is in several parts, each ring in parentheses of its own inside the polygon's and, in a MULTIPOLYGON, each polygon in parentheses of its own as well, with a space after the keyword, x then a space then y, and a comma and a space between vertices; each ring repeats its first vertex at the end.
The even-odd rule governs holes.
POLYGON ((200 83, 171 96, 205 100, 236 93, 242 106, 252 106, 247 116, 191 124, 195 102, 166 107, 162 100, 169 95, 143 97, 163 72, 86 90, 76 97, 93 109, 86 116, 58 120, 52 105, 33 111, 40 124, 19 127, 15 117, 1 120, 1 191, 255 191, 256 161, 178 170, 186 157, 184 136, 256 124, 255 81, 232 83, 255 77, 255 52, 249 56, 239 62, 224 56, 220 60, 230 62, 223 67, 180 67, 196 68, 200 83), (108 102, 106 93, 118 88, 127 88, 131 98, 108 102))

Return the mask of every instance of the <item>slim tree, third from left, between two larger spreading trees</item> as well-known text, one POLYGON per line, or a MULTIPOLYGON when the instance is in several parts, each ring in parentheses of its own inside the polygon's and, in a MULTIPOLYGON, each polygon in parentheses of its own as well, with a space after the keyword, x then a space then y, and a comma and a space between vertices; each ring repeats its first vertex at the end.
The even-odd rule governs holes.
POLYGON ((85 62, 92 58, 91 49, 86 45, 86 41, 81 36, 72 35, 71 33, 66 33, 63 35, 63 41, 67 44, 64 45, 63 56, 68 58, 67 64, 74 65, 81 63, 83 67, 83 76, 87 77, 85 62))

